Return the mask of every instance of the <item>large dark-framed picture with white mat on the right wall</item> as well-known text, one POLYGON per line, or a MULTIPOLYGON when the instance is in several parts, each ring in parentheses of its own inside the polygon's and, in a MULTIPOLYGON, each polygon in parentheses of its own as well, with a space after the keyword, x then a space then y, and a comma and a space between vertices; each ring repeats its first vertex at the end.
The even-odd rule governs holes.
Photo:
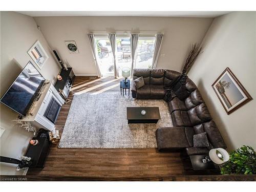
POLYGON ((242 105, 252 100, 236 76, 229 68, 211 85, 229 115, 242 105))

